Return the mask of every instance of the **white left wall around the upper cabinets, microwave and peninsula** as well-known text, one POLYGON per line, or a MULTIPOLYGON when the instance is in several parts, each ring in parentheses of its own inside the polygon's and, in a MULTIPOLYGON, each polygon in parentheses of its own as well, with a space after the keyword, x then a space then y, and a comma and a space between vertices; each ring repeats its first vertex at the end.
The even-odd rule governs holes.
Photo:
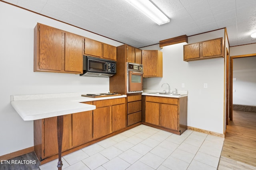
POLYGON ((109 78, 33 72, 34 27, 37 22, 110 45, 122 45, 100 35, 0 2, 0 156, 34 146, 33 121, 21 119, 10 105, 11 95, 109 90, 109 78))

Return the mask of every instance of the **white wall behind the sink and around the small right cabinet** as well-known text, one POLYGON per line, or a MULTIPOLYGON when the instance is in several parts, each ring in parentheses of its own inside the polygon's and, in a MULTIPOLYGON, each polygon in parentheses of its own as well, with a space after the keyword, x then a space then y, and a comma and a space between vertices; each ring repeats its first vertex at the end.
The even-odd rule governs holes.
MULTIPOLYGON (((224 29, 188 37, 188 43, 224 37, 224 29)), ((183 61, 183 45, 179 43, 159 48, 142 49, 163 52, 163 78, 144 78, 145 89, 161 88, 168 83, 171 89, 188 90, 188 126, 223 134, 224 125, 224 58, 183 61), (185 88, 181 84, 185 83, 185 88), (204 83, 208 88, 204 88, 204 83)))

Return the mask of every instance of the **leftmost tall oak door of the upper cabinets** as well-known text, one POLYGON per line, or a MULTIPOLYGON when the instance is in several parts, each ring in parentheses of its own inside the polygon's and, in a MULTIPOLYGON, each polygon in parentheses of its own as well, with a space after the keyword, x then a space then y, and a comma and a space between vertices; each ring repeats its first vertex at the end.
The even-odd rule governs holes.
MULTIPOLYGON (((39 31, 39 68, 46 70, 62 69, 62 49, 64 32, 60 29, 40 24, 39 31)), ((64 56, 64 54, 63 54, 64 56)))

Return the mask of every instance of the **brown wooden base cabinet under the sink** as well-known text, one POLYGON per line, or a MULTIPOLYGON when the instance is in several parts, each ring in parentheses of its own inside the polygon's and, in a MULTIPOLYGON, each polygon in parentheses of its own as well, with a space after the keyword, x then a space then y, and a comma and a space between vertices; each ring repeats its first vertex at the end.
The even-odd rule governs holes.
POLYGON ((143 122, 146 125, 170 129, 172 133, 182 134, 187 129, 188 97, 168 98, 143 96, 143 122))

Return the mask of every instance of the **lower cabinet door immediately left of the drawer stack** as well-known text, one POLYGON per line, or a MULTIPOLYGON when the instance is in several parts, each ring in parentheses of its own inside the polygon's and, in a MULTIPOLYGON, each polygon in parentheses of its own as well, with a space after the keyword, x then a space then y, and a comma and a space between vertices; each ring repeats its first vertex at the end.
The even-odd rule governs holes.
POLYGON ((126 127, 125 104, 112 106, 112 131, 118 131, 126 127))

